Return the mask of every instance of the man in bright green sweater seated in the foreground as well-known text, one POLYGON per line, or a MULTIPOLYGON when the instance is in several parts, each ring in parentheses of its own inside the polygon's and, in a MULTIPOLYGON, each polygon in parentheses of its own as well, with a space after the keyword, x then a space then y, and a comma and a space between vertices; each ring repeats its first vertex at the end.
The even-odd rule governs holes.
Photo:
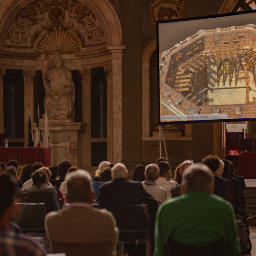
POLYGON ((209 167, 189 166, 182 181, 185 193, 158 209, 154 256, 165 255, 165 241, 169 241, 171 255, 175 256, 220 255, 215 250, 223 252, 222 241, 228 243, 228 255, 239 256, 241 249, 233 207, 212 194, 214 176, 209 167), (192 254, 195 251, 198 253, 192 254))

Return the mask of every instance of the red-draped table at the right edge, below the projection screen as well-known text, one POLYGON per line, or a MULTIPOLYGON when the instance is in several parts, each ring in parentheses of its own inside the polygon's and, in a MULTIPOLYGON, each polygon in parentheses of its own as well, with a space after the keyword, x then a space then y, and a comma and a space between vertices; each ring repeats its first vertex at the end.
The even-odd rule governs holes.
POLYGON ((237 175, 244 176, 245 179, 256 177, 256 152, 241 153, 237 175))

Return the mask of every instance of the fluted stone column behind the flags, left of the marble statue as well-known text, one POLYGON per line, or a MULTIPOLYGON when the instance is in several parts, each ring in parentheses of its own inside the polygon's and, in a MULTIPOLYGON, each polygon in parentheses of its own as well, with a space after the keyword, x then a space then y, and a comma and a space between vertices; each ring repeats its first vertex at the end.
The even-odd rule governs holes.
POLYGON ((23 70, 24 79, 24 147, 28 143, 28 122, 29 112, 31 123, 34 117, 34 77, 36 72, 33 70, 23 70))

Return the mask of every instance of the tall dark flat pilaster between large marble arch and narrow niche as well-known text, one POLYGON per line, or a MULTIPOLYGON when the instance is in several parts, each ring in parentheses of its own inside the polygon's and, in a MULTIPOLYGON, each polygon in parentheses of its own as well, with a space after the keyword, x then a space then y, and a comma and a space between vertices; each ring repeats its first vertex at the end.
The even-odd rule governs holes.
POLYGON ((122 1, 123 160, 141 159, 141 1, 122 1), (124 4, 125 3, 125 4, 124 4))

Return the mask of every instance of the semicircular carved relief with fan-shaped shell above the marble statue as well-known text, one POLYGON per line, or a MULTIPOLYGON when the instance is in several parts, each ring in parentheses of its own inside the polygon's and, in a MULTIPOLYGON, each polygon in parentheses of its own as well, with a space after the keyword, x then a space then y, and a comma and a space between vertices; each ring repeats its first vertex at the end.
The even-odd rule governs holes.
POLYGON ((4 49, 19 52, 62 53, 105 45, 96 16, 79 1, 34 1, 13 19, 4 49))

